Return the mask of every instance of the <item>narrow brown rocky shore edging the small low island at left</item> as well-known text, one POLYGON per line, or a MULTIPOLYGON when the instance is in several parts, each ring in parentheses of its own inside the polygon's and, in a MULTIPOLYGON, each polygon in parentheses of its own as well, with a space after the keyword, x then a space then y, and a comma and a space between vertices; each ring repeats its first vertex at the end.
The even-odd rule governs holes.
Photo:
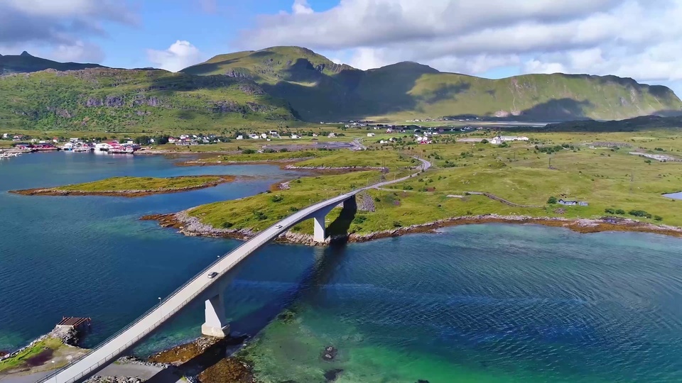
POLYGON ((233 182, 236 177, 229 175, 220 176, 210 176, 210 175, 200 175, 200 176, 183 176, 183 178, 195 178, 195 177, 220 177, 217 181, 205 182, 193 187, 178 187, 178 188, 167 188, 167 189, 145 189, 145 190, 103 190, 103 191, 80 191, 80 190, 63 190, 56 188, 38 188, 38 189, 23 189, 23 190, 10 190, 12 194, 21 194, 23 196, 125 196, 125 197, 139 197, 139 196, 151 196, 154 194, 169 194, 169 193, 180 193, 183 191, 191 191, 197 189, 205 189, 207 187, 215 187, 220 184, 227 182, 233 182))

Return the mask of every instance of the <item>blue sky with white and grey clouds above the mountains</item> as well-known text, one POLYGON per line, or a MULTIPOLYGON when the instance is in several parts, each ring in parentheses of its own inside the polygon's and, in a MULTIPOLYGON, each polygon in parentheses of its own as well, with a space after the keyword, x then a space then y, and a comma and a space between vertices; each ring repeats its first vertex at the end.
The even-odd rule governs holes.
POLYGON ((0 54, 180 70, 301 45, 507 77, 616 74, 682 95, 682 0, 0 0, 0 54))

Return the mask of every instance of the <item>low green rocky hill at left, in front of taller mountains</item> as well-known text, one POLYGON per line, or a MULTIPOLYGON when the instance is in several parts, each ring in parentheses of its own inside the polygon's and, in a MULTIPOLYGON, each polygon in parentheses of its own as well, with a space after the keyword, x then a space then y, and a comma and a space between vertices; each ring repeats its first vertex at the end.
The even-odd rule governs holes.
POLYGON ((0 128, 219 130, 296 117, 249 79, 109 68, 0 76, 0 128))

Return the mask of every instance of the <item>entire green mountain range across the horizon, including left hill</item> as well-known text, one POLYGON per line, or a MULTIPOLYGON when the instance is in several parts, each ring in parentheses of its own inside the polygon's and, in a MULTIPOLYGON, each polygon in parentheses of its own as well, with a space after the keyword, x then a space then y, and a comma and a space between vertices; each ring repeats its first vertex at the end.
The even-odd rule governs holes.
POLYGON ((178 73, 60 63, 28 52, 0 56, 0 126, 26 129, 464 115, 621 120, 681 112, 682 101, 671 89, 629 77, 522 74, 485 79, 440 72, 418 62, 364 71, 301 47, 217 55, 178 73), (144 109, 147 97, 157 101, 144 109), (110 98, 116 101, 107 101, 110 98))

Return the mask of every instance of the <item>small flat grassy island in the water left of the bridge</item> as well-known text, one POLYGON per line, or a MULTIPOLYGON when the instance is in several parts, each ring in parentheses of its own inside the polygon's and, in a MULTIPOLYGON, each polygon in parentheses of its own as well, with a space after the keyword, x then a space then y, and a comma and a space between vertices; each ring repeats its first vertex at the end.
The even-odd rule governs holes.
POLYGON ((153 177, 112 177, 100 181, 72 184, 62 187, 25 189, 10 191, 23 195, 97 195, 97 196, 147 196, 151 194, 177 193, 213 187, 224 182, 232 182, 233 176, 181 176, 169 178, 153 177))

